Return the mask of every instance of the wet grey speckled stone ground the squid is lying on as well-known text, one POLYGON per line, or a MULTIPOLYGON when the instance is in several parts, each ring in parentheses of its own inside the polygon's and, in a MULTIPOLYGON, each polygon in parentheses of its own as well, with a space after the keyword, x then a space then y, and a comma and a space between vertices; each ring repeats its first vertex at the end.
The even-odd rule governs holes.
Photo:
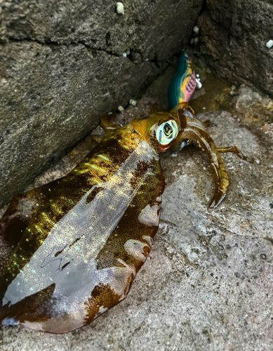
MULTIPOLYGON (((272 350, 273 102, 244 86, 232 100, 232 112, 199 115, 211 120, 216 145, 237 145, 254 157, 223 156, 230 187, 222 204, 207 209, 212 174, 196 144, 177 157, 166 152, 161 229, 128 298, 65 335, 1 327, 1 351, 272 350)), ((144 115, 152 102, 143 98, 119 121, 144 115)), ((67 172, 76 156, 84 157, 84 146, 36 185, 58 178, 58 167, 67 172)))

